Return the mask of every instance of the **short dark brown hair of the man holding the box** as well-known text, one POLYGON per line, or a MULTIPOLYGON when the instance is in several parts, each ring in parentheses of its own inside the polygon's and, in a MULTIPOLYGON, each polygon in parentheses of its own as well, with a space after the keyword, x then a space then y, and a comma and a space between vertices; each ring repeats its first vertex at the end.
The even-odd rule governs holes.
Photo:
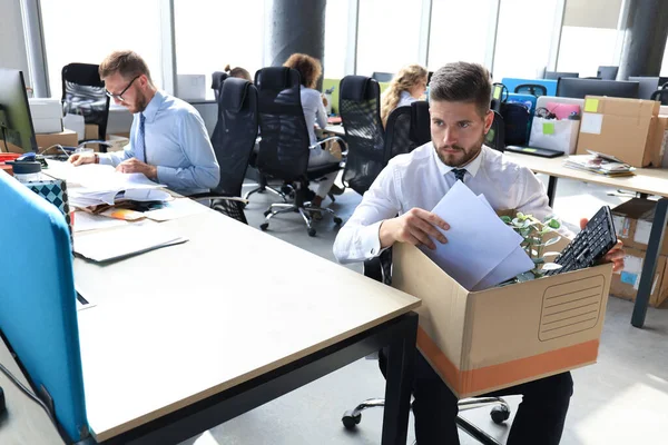
POLYGON ((429 83, 430 100, 475 103, 481 117, 490 110, 490 72, 479 63, 453 62, 439 68, 429 83))

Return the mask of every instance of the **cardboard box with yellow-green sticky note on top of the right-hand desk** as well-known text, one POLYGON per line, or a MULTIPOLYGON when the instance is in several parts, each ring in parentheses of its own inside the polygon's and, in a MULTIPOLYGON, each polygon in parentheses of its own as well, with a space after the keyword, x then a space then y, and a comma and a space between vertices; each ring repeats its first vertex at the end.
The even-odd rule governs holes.
POLYGON ((578 137, 578 155, 593 150, 633 167, 659 166, 660 102, 587 96, 578 137))

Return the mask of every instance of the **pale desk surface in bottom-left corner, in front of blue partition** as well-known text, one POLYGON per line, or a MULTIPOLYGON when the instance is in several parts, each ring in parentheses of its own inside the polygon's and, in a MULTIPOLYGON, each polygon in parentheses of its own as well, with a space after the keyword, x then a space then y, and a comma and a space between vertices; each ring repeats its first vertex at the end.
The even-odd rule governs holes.
MULTIPOLYGON (((0 363, 30 388, 26 376, 2 339, 0 339, 0 363)), ((47 413, 2 373, 0 373, 0 386, 4 390, 7 404, 7 413, 0 415, 0 444, 65 445, 47 413)))

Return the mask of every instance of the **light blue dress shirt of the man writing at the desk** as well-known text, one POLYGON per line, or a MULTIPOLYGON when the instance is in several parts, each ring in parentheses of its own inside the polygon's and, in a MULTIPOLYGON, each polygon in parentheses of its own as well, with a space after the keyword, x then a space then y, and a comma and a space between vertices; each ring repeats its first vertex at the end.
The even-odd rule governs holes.
POLYGON ((100 155, 100 164, 117 166, 136 157, 141 115, 146 164, 157 167, 158 182, 181 195, 207 192, 218 185, 220 169, 204 120, 191 105, 161 91, 144 112, 135 113, 126 149, 100 155))

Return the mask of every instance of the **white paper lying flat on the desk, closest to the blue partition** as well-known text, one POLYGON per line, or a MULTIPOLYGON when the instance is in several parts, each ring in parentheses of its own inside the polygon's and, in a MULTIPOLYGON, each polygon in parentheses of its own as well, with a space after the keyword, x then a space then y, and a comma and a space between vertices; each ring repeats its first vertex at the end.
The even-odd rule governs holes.
POLYGON ((75 253, 94 261, 109 261, 187 240, 157 224, 131 224, 75 237, 75 253))

